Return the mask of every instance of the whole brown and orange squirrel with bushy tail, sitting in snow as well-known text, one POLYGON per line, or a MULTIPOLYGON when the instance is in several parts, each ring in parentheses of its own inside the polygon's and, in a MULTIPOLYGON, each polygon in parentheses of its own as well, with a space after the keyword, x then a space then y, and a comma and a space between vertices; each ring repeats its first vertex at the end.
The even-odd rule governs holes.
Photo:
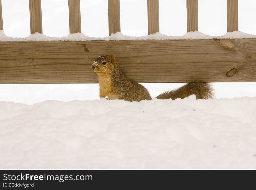
MULTIPOLYGON (((99 80, 99 97, 107 99, 123 99, 129 102, 151 100, 147 89, 127 78, 119 67, 115 55, 99 56, 92 64, 92 69, 97 73, 99 80)), ((158 95, 157 99, 176 99, 196 95, 196 99, 208 99, 213 97, 211 85, 203 81, 193 81, 171 91, 158 95)))

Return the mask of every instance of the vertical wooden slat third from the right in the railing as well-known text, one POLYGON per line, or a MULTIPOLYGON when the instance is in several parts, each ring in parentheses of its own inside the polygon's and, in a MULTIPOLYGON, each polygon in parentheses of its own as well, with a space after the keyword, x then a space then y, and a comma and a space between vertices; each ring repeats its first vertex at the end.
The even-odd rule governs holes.
POLYGON ((159 32, 159 4, 158 0, 147 0, 148 35, 159 32))

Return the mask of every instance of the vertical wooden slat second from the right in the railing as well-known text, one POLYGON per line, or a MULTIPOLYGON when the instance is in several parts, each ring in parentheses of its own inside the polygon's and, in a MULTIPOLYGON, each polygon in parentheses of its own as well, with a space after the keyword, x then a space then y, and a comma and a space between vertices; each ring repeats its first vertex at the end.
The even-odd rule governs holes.
POLYGON ((198 1, 187 0, 187 32, 198 30, 198 1))

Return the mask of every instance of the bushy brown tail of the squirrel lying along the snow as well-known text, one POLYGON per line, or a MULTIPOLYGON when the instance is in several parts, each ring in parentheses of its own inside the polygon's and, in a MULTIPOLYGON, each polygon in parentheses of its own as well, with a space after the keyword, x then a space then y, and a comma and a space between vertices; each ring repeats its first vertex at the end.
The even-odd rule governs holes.
POLYGON ((203 81, 193 81, 185 84, 184 86, 171 91, 166 91, 158 95, 157 99, 176 99, 185 98, 190 95, 196 95, 196 99, 208 99, 214 97, 214 92, 211 85, 203 81))

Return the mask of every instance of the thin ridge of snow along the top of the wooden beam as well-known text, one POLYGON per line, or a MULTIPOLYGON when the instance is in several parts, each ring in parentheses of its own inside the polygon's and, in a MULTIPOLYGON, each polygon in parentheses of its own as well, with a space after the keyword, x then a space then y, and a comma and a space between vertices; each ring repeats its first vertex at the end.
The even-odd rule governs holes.
POLYGON ((201 32, 188 32, 183 36, 168 36, 165 34, 161 34, 159 32, 155 34, 150 34, 147 36, 141 37, 132 37, 123 35, 121 32, 117 32, 115 34, 112 33, 111 36, 107 36, 104 38, 95 38, 88 37, 82 33, 69 34, 64 37, 49 37, 38 32, 35 34, 31 34, 29 37, 25 38, 12 38, 8 37, 4 34, 3 30, 0 30, 0 41, 89 41, 89 40, 154 40, 154 39, 237 39, 237 38, 256 38, 256 35, 246 34, 241 31, 227 32, 222 36, 209 36, 205 35, 201 32))

